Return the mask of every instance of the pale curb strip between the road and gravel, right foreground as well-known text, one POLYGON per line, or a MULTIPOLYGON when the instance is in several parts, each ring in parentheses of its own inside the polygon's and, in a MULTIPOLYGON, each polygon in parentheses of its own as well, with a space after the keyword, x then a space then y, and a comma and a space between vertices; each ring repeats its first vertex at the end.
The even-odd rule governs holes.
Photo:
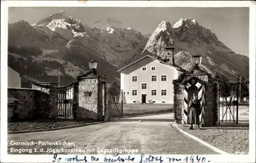
POLYGON ((186 131, 180 129, 180 128, 178 127, 178 125, 175 124, 175 123, 172 123, 172 127, 173 127, 173 128, 176 128, 178 131, 180 131, 181 133, 187 135, 188 137, 190 137, 190 138, 192 138, 192 139, 198 141, 198 142, 201 143, 202 145, 204 145, 204 146, 210 148, 211 150, 214 150, 215 152, 218 152, 218 153, 220 153, 220 154, 230 154, 230 153, 224 152, 224 151, 222 151, 222 150, 220 150, 220 149, 218 149, 218 148, 216 148, 216 147, 210 145, 209 143, 207 143, 207 142, 205 142, 205 141, 203 141, 203 140, 197 138, 197 137, 194 136, 193 134, 190 134, 190 133, 188 133, 188 132, 186 132, 186 131))

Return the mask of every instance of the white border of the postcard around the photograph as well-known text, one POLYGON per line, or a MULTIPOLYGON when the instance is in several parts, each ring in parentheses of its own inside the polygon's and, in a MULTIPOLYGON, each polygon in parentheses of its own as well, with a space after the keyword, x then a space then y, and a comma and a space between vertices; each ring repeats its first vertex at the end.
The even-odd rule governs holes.
MULTIPOLYGON (((250 116, 248 155, 200 155, 210 162, 255 162, 255 2, 253 1, 1 1, 1 162, 52 162, 53 155, 7 154, 8 7, 249 7, 250 116)), ((232 30, 232 29, 230 29, 232 30)), ((170 153, 171 154, 171 153, 170 153)), ((81 155, 82 156, 82 155, 81 155)), ((139 161, 139 155, 133 155, 139 161), (138 157, 138 158, 137 158, 138 157)), ((162 155, 168 157, 170 155, 162 155)), ((172 155, 184 157, 186 155, 172 155)), ((98 155, 102 162, 104 155, 98 155)), ((136 162, 137 162, 136 161, 136 162)), ((90 162, 90 161, 88 161, 90 162)), ((159 161, 153 161, 159 162, 159 161)), ((179 161, 183 162, 183 161, 179 161)), ((196 162, 196 161, 195 161, 196 162)))

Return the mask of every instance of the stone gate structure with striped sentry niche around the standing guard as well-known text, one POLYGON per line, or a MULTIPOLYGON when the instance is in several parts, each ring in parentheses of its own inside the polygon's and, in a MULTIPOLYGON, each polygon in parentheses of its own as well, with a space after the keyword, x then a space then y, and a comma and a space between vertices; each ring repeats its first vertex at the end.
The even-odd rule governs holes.
POLYGON ((214 126, 218 123, 218 85, 216 79, 195 65, 190 71, 173 80, 175 122, 187 124, 190 108, 188 103, 193 93, 201 103, 200 124, 214 126))

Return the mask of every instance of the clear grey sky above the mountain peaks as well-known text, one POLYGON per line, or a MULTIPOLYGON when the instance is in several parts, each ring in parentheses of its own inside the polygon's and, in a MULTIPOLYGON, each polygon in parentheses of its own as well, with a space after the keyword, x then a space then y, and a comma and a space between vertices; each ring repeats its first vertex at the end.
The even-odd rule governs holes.
POLYGON ((107 25, 107 19, 111 18, 121 22, 112 24, 114 26, 151 34, 162 20, 173 25, 180 18, 190 17, 214 32, 234 52, 249 57, 249 8, 12 7, 9 8, 8 21, 25 20, 34 24, 60 10, 91 27, 107 25), (99 20, 100 23, 95 23, 99 20))

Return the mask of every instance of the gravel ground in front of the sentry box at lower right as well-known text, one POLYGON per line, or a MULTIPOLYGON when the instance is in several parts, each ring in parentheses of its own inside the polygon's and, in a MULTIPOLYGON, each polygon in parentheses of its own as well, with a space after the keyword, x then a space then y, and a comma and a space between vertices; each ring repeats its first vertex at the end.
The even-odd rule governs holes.
POLYGON ((205 142, 230 154, 249 153, 249 128, 201 128, 190 130, 189 126, 179 125, 182 130, 197 136, 205 142))

